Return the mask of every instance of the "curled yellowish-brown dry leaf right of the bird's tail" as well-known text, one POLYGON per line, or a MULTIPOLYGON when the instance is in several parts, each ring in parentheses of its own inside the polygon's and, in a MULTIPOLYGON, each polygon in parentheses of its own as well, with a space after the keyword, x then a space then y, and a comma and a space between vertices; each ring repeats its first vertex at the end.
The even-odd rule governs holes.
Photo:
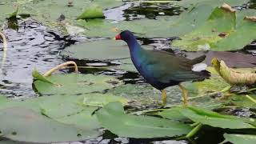
POLYGON ((253 85, 256 83, 256 69, 253 71, 234 70, 217 58, 213 58, 211 63, 218 74, 230 85, 253 85))

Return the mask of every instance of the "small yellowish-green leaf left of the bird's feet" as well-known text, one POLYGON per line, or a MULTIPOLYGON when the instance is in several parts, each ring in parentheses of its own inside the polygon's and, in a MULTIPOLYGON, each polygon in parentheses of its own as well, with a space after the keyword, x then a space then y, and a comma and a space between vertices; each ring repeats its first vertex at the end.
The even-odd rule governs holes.
POLYGON ((98 106, 102 107, 108 104, 109 102, 121 102, 123 106, 128 104, 128 100, 126 98, 122 98, 120 96, 116 96, 114 94, 86 94, 86 97, 83 99, 82 104, 85 106, 98 106))

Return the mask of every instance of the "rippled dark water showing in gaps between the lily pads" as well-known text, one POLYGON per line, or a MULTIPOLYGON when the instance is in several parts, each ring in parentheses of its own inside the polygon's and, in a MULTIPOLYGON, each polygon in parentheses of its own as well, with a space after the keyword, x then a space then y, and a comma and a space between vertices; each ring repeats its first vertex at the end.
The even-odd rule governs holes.
MULTIPOLYGON (((251 2, 246 7, 255 7, 255 3, 251 2)), ((159 15, 177 15, 182 12, 182 8, 172 5, 162 4, 126 4, 117 8, 106 10, 105 15, 108 19, 116 21, 133 20, 138 18, 155 18, 159 15)), ((4 26, 4 33, 8 38, 8 48, 6 51, 5 61, 2 61, 2 43, 0 43, 1 66, 0 71, 0 94, 4 94, 10 98, 30 98, 37 94, 32 89, 32 70, 37 68, 40 72, 44 73, 50 68, 65 62, 65 59, 59 57, 58 53, 66 46, 74 44, 76 41, 85 42, 85 37, 64 37, 55 31, 50 31, 46 26, 35 22, 34 20, 26 19, 19 20, 18 27, 10 29, 7 25, 4 26)), ((145 45, 153 45, 157 49, 169 49, 168 42, 170 39, 165 38, 139 38, 145 45)), ((247 51, 241 51, 241 54, 247 54, 248 57, 256 55, 255 42, 247 46, 247 51)), ((169 49, 170 50, 170 49, 169 49)), ((185 54, 179 50, 171 50, 176 54, 185 54)), ((185 54, 186 55, 186 54, 185 54)), ((193 54, 192 54, 193 55, 193 54)), ((78 62, 78 65, 83 66, 85 62, 78 62)), ((105 62, 107 65, 113 63, 105 62)), ((98 70, 98 69, 81 69, 82 73, 96 73, 96 74, 110 74, 118 76, 126 83, 144 82, 137 73, 126 73, 111 70, 98 70)), ((69 70, 62 71, 64 73, 69 70)), ((230 114, 236 114, 248 117, 246 110, 229 111, 230 114), (246 115, 247 114, 247 115, 246 115)), ((250 115, 249 115, 250 116, 250 115)), ((82 143, 155 143, 155 144, 183 144, 193 143, 189 141, 173 141, 165 139, 134 139, 134 138, 112 138, 113 134, 108 136, 96 138, 86 142, 72 142, 72 144, 82 143), (106 140, 102 140, 105 138, 106 140)), ((197 143, 218 143, 222 142, 223 131, 220 129, 210 130, 204 127, 200 132, 200 137, 196 138, 194 142, 197 143)))

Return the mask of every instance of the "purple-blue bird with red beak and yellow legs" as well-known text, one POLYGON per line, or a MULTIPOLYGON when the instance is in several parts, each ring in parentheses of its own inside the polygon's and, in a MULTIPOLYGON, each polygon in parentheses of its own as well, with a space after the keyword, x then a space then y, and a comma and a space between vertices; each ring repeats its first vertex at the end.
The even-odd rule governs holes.
POLYGON ((206 58, 205 55, 191 60, 162 50, 145 50, 138 44, 134 34, 129 30, 122 31, 115 39, 121 39, 128 44, 130 58, 134 66, 146 79, 146 82, 161 90, 163 105, 166 105, 166 90, 164 90, 166 87, 178 85, 182 89, 184 104, 186 105, 187 90, 180 82, 210 77, 210 73, 205 69, 196 70, 198 63, 206 58))

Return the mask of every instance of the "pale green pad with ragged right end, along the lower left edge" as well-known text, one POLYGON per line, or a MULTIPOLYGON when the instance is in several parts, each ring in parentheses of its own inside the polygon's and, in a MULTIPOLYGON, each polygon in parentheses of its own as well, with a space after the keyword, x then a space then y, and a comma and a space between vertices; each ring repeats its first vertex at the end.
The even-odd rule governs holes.
MULTIPOLYGON (((29 98, 24 101, 8 100, 1 103, 0 110, 11 107, 22 107, 34 110, 38 114, 54 118, 58 122, 72 126, 84 127, 86 130, 98 130, 101 126, 92 113, 97 107, 82 106, 82 100, 86 94, 74 95, 52 95, 38 98, 29 98)), ((0 97, 1 99, 1 97, 0 97)))

